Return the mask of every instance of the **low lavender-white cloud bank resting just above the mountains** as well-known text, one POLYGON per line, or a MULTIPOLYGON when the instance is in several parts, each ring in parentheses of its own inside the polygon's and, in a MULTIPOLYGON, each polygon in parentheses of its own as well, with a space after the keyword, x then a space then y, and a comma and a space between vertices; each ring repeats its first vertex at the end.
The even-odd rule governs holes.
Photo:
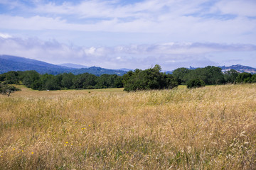
MULTIPOLYGON (((71 62, 111 69, 146 69, 160 64, 163 69, 216 65, 212 54, 221 52, 256 52, 256 45, 169 42, 156 45, 119 45, 116 47, 77 47, 55 40, 36 38, 0 38, 0 54, 28 57, 54 64, 71 62), (214 61, 214 62, 213 62, 214 61)), ((232 60, 227 56, 225 60, 232 60)))

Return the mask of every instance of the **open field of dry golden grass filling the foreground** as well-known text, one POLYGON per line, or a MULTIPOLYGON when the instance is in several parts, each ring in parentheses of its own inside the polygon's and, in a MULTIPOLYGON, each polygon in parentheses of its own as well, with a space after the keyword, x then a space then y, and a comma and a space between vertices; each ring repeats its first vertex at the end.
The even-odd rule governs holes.
POLYGON ((256 84, 0 96, 0 169, 256 169, 256 84))

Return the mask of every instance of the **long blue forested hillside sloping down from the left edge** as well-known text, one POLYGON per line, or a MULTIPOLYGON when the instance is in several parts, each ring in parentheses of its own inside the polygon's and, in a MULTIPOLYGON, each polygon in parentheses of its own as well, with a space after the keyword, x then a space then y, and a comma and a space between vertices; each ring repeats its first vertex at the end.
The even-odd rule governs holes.
POLYGON ((123 75, 126 72, 122 70, 104 69, 101 67, 90 67, 76 69, 73 67, 65 67, 61 65, 49 64, 38 60, 31 60, 24 57, 16 57, 10 55, 0 55, 0 74, 9 71, 26 71, 36 70, 40 74, 61 74, 64 72, 72 72, 73 74, 90 73, 100 76, 102 74, 117 74, 123 75))

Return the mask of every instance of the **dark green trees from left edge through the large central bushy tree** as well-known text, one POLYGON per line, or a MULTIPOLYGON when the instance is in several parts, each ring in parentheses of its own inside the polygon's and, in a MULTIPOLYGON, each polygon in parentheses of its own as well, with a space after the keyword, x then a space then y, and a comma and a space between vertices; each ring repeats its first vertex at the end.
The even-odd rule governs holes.
POLYGON ((116 74, 63 73, 58 75, 39 74, 36 71, 7 72, 0 74, 0 82, 4 84, 23 84, 34 90, 60 90, 60 89, 106 89, 122 88, 124 91, 137 91, 147 89, 172 89, 178 86, 171 74, 160 72, 161 67, 130 71, 123 76, 116 74))

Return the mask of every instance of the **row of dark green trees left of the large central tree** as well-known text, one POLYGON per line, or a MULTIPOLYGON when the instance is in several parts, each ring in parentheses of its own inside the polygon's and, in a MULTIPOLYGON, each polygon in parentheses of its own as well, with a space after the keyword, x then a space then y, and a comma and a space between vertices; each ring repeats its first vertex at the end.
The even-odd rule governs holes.
POLYGON ((122 78, 116 74, 84 73, 74 75, 63 73, 58 75, 39 74, 36 71, 7 72, 0 74, 0 81, 5 84, 23 84, 33 90, 60 90, 60 89, 104 89, 122 87, 122 78))

